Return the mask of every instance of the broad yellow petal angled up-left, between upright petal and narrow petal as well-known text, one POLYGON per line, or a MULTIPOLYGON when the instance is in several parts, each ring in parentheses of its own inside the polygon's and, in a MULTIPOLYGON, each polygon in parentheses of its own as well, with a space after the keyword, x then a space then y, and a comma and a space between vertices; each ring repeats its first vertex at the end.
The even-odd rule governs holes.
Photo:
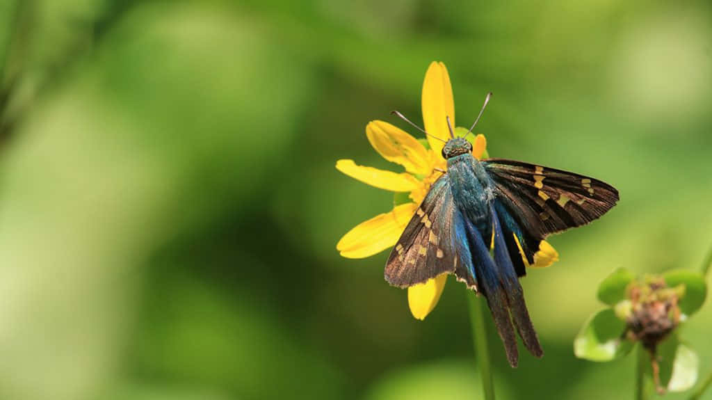
POLYGON ((378 154, 401 164, 407 172, 427 175, 432 171, 428 150, 404 130, 388 122, 371 121, 366 125, 366 136, 378 154))

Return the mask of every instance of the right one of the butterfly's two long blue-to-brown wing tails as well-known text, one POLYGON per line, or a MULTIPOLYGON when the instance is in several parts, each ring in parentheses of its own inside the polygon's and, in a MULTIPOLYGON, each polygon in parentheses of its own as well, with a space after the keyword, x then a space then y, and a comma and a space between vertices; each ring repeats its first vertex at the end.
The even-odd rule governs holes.
POLYGON ((504 238, 500 219, 494 207, 491 207, 491 215, 494 230, 494 260, 496 265, 498 265, 499 275, 503 285, 502 292, 506 294, 512 320, 514 321, 519 336, 524 342, 524 346, 536 357, 542 357, 544 351, 541 348, 536 331, 534 330, 534 325, 529 317, 529 310, 524 301, 524 290, 519 283, 518 274, 512 263, 511 254, 504 238))

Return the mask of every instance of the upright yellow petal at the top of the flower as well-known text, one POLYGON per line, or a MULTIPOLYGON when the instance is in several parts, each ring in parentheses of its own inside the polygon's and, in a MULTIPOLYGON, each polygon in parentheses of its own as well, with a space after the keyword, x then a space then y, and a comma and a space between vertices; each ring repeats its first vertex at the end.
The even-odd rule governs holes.
MULTIPOLYGON (((450 117, 450 124, 455 128, 455 102, 452 97, 450 76, 445 64, 433 61, 425 73, 422 94, 423 123, 425 130, 430 135, 448 140, 450 130, 447 126, 446 116, 450 117)), ((428 137, 430 148, 440 156, 443 142, 428 137)))

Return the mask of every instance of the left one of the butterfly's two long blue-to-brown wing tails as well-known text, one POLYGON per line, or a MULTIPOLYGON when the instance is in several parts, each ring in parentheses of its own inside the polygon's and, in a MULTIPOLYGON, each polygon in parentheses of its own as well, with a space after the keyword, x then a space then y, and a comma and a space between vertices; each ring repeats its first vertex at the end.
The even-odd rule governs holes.
MULTIPOLYGON (((465 267, 463 269, 471 274, 471 278, 476 278, 478 290, 487 299, 509 364, 516 367, 519 359, 517 339, 509 317, 507 295, 497 276, 496 266, 477 229, 462 216, 460 211, 455 211, 455 213, 452 241, 456 246, 458 258, 465 267)), ((459 278, 467 279, 466 277, 459 278)))

